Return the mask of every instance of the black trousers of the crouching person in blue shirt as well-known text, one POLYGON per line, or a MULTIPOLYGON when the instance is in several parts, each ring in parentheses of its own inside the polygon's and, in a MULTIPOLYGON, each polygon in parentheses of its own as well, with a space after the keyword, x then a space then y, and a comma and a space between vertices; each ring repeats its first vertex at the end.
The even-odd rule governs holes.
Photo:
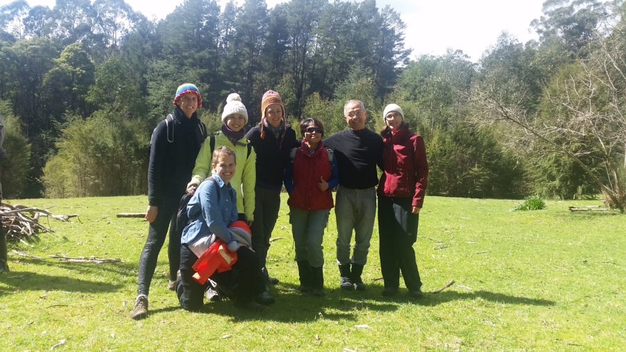
MULTIPOLYGON (((175 289, 180 306, 191 312, 197 312, 202 308, 204 292, 209 285, 207 282, 200 285, 193 280, 195 271, 192 266, 197 260, 198 257, 186 243, 183 243, 180 246, 180 277, 176 281, 175 289)), ((230 282, 219 282, 220 285, 227 285, 234 291, 235 299, 243 303, 252 301, 265 290, 259 268, 259 258, 247 247, 240 247, 237 250, 237 261, 232 265, 231 275, 222 277, 228 278, 230 282)))

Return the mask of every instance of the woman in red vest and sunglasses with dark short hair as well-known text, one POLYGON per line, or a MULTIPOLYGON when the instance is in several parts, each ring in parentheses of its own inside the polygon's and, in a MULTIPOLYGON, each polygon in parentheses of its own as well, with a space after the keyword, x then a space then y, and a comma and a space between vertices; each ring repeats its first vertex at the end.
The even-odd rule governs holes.
POLYGON ((333 207, 332 189, 339 184, 337 160, 321 141, 322 123, 316 118, 300 122, 302 145, 291 150, 291 163, 284 171, 289 192, 289 223, 296 243, 300 274, 298 291, 324 295, 322 241, 333 207))

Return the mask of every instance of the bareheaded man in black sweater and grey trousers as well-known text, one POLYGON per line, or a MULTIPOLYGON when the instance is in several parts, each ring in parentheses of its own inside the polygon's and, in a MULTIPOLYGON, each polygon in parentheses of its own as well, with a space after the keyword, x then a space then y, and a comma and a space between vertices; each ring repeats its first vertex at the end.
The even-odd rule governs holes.
POLYGON ((359 100, 344 105, 349 129, 326 138, 324 146, 335 151, 339 168, 339 187, 335 200, 337 217, 337 264, 342 289, 365 289, 361 280, 367 263, 369 241, 376 217, 376 165, 382 168, 383 138, 365 128, 367 111, 359 100), (350 241, 355 232, 353 255, 350 241), (352 265, 352 268, 351 268, 352 265))

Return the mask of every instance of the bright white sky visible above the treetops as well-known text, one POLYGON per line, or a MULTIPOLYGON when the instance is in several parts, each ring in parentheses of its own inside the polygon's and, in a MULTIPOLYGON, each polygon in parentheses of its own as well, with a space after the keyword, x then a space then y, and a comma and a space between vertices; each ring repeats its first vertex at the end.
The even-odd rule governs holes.
MULTIPOLYGON (((13 0, 0 0, 0 6, 13 0)), ((332 1, 332 0, 331 0, 332 1)), ((530 22, 541 15, 545 0, 377 0, 378 8, 390 5, 406 24, 405 47, 411 58, 421 54, 442 55, 460 49, 478 61, 499 33, 508 31, 520 42, 537 39, 530 22)), ((30 6, 54 7, 54 0, 27 0, 30 6)), ((126 0, 146 17, 162 19, 183 0, 126 0)), ((226 3, 227 0, 218 0, 226 3)), ((243 3, 243 0, 239 0, 243 3)), ((266 0, 268 8, 282 0, 266 0)))

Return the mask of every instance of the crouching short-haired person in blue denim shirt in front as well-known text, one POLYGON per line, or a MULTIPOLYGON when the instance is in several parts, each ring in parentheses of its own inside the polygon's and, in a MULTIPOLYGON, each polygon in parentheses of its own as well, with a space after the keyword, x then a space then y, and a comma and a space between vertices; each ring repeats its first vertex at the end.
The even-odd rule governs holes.
POLYGON ((236 252, 229 285, 236 295, 235 305, 259 312, 263 310, 259 303, 274 303, 273 299, 254 301, 264 291, 259 259, 248 245, 237 241, 228 228, 238 218, 236 191, 230 185, 236 168, 235 153, 225 146, 216 148, 212 166, 213 175, 200 183, 187 205, 190 223, 182 234, 176 293, 185 310, 202 308, 209 284, 204 282, 201 285, 193 278, 196 272, 192 266, 211 244, 220 239, 228 252, 236 252))

